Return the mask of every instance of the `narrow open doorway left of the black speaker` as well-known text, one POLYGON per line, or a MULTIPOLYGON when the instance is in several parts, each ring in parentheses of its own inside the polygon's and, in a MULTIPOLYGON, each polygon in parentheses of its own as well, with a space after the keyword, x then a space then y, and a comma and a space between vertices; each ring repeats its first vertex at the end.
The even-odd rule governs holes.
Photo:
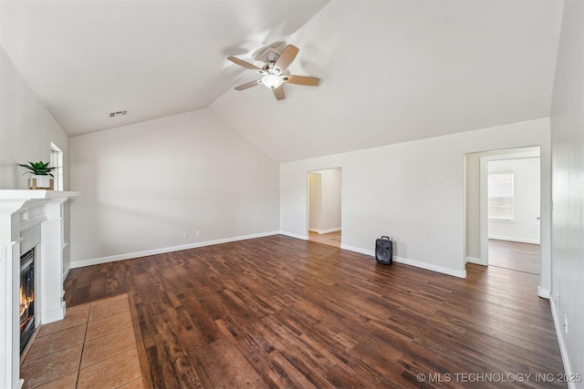
POLYGON ((308 172, 308 241, 340 247, 341 169, 308 172))

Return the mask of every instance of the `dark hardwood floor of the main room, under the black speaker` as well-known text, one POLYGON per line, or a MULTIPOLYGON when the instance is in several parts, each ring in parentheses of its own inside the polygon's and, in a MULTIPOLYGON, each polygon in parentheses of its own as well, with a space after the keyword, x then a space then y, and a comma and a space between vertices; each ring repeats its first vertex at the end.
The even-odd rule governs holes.
POLYGON ((467 272, 276 235, 75 269, 65 296, 129 293, 155 388, 566 387, 536 379, 563 373, 537 275, 467 272))

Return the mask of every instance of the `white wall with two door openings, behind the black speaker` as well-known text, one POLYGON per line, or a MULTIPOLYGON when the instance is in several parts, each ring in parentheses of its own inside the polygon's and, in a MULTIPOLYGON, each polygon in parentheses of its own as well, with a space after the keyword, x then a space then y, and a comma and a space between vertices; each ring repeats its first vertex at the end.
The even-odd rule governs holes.
POLYGON ((547 118, 284 163, 280 229, 306 238, 307 172, 340 167, 344 249, 389 235, 396 261, 464 277, 464 154, 535 145, 548 163, 547 118))

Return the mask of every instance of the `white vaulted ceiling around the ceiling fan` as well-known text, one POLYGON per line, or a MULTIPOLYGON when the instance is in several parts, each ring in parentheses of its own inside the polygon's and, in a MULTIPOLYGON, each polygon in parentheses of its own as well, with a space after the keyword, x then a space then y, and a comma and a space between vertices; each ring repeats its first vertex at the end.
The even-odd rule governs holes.
POLYGON ((210 107, 288 161, 549 116, 562 4, 2 0, 0 44, 70 136, 210 107), (320 86, 233 90, 282 40, 320 86))

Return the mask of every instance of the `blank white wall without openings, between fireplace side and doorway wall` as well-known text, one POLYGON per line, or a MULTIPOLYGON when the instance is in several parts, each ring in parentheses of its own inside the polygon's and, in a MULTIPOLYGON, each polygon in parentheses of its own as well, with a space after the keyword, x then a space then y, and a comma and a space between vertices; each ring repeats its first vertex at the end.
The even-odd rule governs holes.
POLYGON ((206 109, 71 138, 71 188, 73 267, 278 230, 277 163, 206 109))

